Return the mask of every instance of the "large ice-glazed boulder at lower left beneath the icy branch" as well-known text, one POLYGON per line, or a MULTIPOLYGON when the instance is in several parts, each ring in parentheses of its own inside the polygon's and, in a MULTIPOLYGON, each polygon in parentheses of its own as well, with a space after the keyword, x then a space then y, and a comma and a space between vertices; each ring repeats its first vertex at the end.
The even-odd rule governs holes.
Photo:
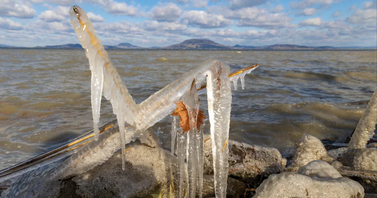
POLYGON ((156 193, 162 197, 176 196, 176 157, 170 151, 151 148, 138 140, 126 148, 125 170, 120 150, 93 169, 61 180, 51 177, 56 167, 52 164, 48 171, 35 169, 21 175, 2 197, 140 197, 156 193))

